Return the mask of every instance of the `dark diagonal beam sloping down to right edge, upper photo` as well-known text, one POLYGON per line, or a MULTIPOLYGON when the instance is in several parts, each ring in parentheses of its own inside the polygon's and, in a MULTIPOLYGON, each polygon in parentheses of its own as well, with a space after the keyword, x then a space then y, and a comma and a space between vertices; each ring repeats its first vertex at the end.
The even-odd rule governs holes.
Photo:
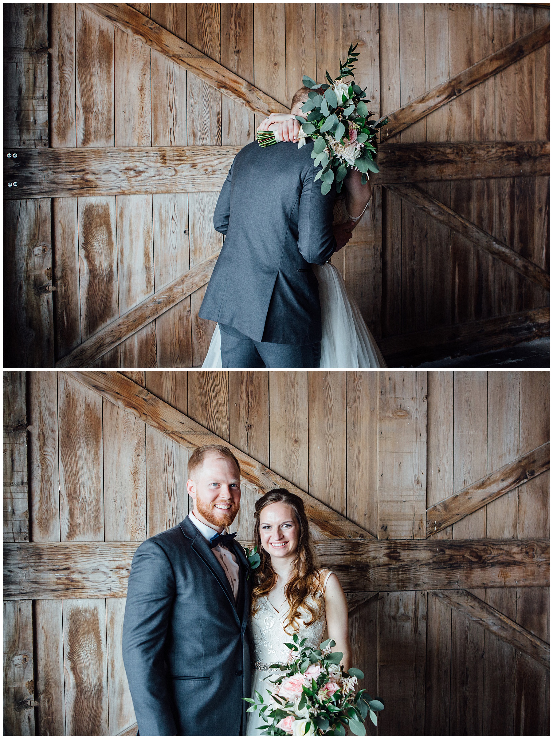
POLYGON ((415 185, 386 185, 389 191, 401 197, 405 202, 420 208, 425 213, 435 218, 438 222, 443 223, 448 228, 453 229, 465 239, 469 239, 482 251, 487 251, 495 259, 501 260, 509 267, 512 267, 518 273, 527 279, 540 285, 545 290, 549 290, 549 274, 546 270, 538 267, 534 262, 519 254, 514 249, 495 239, 491 234, 482 231, 473 222, 459 215, 443 202, 439 202, 436 198, 431 197, 415 185))

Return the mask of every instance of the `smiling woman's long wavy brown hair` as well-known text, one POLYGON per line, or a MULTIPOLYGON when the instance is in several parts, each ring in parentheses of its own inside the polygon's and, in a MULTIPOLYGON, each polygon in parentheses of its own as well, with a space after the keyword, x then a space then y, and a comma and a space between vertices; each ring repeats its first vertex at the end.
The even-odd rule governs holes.
POLYGON ((271 503, 286 503, 292 508, 294 518, 298 524, 298 546, 295 551, 295 560, 292 565, 292 576, 286 583, 284 595, 289 605, 288 615, 284 622, 284 630, 289 633, 288 627, 298 631, 298 618, 300 608, 307 611, 311 616, 306 625, 312 624, 322 613, 322 583, 320 582, 320 571, 317 568, 315 551, 309 533, 309 521, 306 517, 303 500, 285 488, 271 490, 259 498, 255 503, 255 533, 253 542, 257 547, 261 564, 254 571, 254 587, 252 590, 252 614, 258 610, 258 599, 267 596, 277 583, 277 575, 272 569, 271 557, 261 545, 261 534, 259 533, 259 517, 261 511, 271 503), (315 604, 315 605, 314 605, 315 604))

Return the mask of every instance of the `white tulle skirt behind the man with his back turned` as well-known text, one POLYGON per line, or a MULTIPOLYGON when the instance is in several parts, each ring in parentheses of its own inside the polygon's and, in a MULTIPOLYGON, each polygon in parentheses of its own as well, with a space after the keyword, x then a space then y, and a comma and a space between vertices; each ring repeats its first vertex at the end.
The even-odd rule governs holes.
MULTIPOLYGON (((319 283, 321 368, 386 367, 376 341, 363 320, 357 303, 348 296, 346 283, 340 272, 327 262, 312 265, 319 283)), ((219 324, 202 367, 220 369, 221 332, 219 324)))

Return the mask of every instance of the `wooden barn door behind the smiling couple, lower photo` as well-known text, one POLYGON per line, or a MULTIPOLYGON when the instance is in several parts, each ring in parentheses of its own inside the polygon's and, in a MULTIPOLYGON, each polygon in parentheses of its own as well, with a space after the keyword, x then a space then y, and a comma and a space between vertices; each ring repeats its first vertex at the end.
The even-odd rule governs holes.
POLYGON ((549 734, 549 373, 129 375, 4 375, 4 733, 136 731, 131 558, 215 442, 242 542, 258 491, 309 503, 380 734, 549 734))

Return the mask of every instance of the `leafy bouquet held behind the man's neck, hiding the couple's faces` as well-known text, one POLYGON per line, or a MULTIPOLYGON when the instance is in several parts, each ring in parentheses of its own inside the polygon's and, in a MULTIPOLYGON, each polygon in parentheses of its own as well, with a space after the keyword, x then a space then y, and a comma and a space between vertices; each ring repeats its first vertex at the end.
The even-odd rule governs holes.
MULTIPOLYGON (((315 166, 321 166, 315 180, 322 181, 320 191, 323 195, 329 192, 334 180, 337 192, 342 190, 348 168, 363 173, 363 185, 367 182, 367 171, 379 171, 375 161, 377 130, 388 118, 371 118, 374 114, 363 102, 365 91, 353 81, 343 81, 346 77, 355 79, 353 65, 359 56, 356 49, 357 44, 350 45, 346 62, 342 64, 340 59, 340 74, 335 80, 326 72, 329 84, 319 84, 310 77, 303 77, 303 86, 309 87, 311 92, 301 108, 307 120, 296 116, 301 123, 298 149, 305 143, 306 136, 315 139, 311 156, 315 159, 315 166)), ((257 139, 260 146, 276 143, 272 131, 258 132, 257 139)))

